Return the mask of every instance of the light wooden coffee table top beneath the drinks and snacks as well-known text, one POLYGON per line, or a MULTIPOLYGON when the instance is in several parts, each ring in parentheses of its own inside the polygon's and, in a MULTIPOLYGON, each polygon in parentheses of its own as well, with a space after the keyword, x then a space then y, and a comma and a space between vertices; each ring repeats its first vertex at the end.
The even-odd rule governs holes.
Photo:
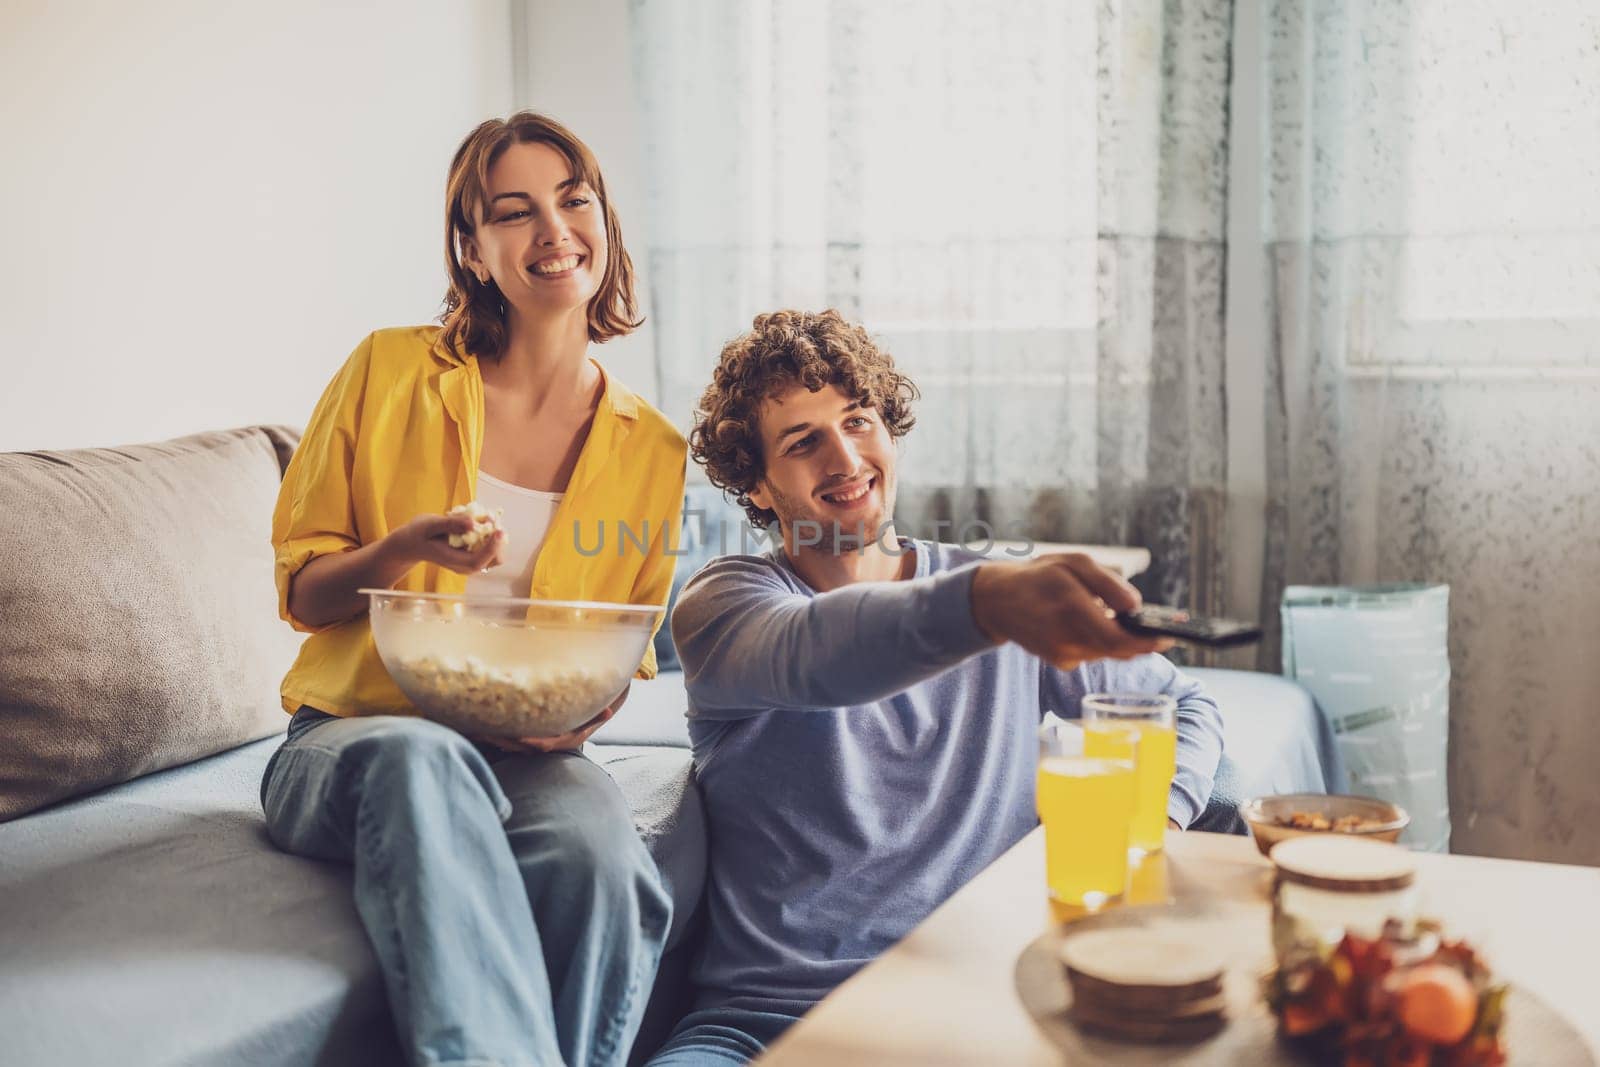
MULTIPOLYGON (((1165 878, 1178 901, 1258 905, 1270 867, 1248 838, 1170 833, 1165 878)), ((1475 942, 1496 969, 1555 1008, 1600 1053, 1600 867, 1418 854, 1426 910, 1475 942)), ((1016 993, 1022 950, 1053 921, 1045 840, 1034 830, 878 960, 819 1003, 760 1059, 829 1064, 1061 1064, 1016 993)), ((1515 1049, 1512 1049, 1515 1064, 1515 1049)))

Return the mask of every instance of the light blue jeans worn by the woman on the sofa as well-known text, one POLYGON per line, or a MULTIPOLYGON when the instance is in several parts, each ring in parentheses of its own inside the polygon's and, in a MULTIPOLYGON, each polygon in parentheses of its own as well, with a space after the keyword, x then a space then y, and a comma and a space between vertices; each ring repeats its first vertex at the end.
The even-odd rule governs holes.
POLYGON ((624 1062, 672 899, 600 766, 302 707, 261 801, 278 848, 354 865, 413 1064, 624 1062))

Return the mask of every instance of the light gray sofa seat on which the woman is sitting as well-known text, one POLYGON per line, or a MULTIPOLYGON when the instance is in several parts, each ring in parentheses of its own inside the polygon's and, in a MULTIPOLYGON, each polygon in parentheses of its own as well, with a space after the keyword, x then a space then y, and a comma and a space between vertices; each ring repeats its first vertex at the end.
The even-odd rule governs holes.
MULTIPOLYGON (((278 741, 0 825, 0 1061, 403 1062, 349 869, 266 837, 261 771, 278 741)), ((704 883, 688 753, 594 755, 664 867, 682 937, 704 883)), ((677 982, 683 955, 664 966, 677 982)))

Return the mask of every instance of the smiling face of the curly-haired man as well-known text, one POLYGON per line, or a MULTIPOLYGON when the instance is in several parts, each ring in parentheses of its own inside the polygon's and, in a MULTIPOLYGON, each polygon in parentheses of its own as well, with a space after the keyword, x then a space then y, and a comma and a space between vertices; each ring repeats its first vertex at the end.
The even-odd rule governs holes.
POLYGON ((765 470, 750 501, 778 512, 787 544, 837 552, 838 534, 853 544, 861 531, 878 536, 894 515, 894 438, 875 408, 837 386, 795 384, 757 418, 765 470))

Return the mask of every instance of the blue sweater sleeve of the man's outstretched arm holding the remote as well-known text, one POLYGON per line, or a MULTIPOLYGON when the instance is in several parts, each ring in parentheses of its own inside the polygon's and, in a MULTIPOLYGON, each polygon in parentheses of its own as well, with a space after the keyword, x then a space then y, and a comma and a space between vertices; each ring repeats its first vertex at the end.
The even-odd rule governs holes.
POLYGON ((771 560, 723 557, 683 587, 672 640, 691 715, 870 704, 994 643, 973 622, 973 568, 806 595, 771 560))

